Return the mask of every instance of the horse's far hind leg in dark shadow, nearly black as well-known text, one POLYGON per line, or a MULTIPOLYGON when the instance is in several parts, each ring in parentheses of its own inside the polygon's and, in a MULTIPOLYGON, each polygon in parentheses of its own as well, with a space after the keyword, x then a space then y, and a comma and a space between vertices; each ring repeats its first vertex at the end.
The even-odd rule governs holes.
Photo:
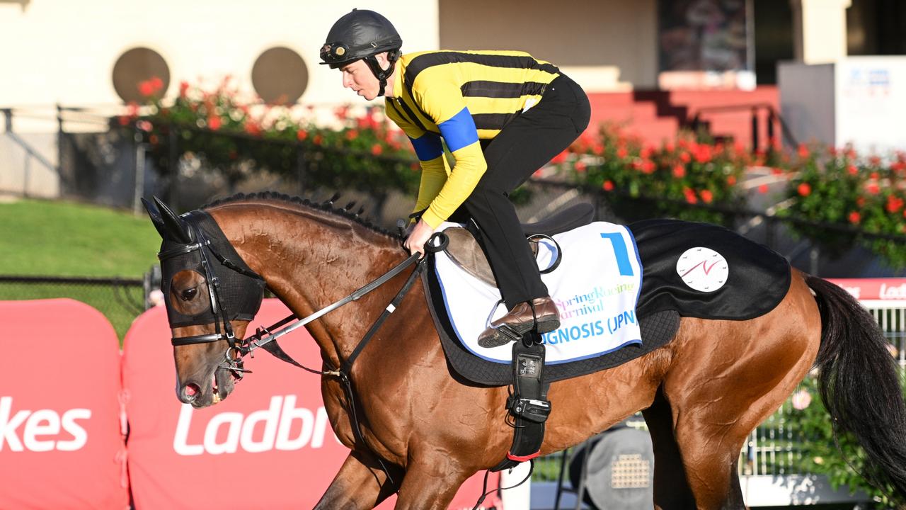
POLYGON ((654 505, 660 510, 686 510, 695 507, 695 497, 686 481, 686 468, 673 436, 670 402, 658 388, 651 407, 641 412, 651 432, 654 446, 654 505))

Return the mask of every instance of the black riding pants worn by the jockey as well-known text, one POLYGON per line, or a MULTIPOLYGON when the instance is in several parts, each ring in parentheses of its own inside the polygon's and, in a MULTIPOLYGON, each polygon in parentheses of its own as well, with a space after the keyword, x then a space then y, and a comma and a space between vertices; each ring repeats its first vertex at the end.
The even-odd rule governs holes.
POLYGON ((506 124, 487 144, 482 141, 487 172, 450 220, 462 222, 467 216, 477 223, 507 309, 548 295, 509 193, 569 147, 588 127, 590 116, 582 88, 560 75, 547 85, 534 107, 506 124))

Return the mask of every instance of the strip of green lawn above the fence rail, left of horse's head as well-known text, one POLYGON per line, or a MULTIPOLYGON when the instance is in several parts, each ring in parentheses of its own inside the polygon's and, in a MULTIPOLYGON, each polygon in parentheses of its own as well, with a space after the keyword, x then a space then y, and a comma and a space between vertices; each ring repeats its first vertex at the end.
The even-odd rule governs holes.
POLYGON ((0 203, 0 274, 140 278, 159 247, 147 216, 64 201, 0 203))

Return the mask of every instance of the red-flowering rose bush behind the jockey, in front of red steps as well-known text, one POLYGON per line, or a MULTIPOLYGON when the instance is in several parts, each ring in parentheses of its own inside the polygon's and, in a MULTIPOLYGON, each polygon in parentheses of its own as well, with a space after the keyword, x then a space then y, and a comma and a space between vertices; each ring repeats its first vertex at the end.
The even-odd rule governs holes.
POLYGON ((683 135, 656 148, 614 124, 604 124, 598 138, 580 138, 554 162, 568 179, 604 191, 623 220, 669 216, 714 223, 729 219, 686 204, 741 205, 737 182, 751 164, 738 145, 710 145, 683 135))

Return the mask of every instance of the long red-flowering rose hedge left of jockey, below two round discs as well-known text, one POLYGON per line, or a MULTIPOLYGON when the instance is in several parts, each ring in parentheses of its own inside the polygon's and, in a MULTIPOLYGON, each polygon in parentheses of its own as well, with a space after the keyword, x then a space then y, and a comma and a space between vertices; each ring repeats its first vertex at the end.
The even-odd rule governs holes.
POLYGON ((389 129, 381 108, 353 118, 338 109, 341 127, 331 129, 306 119, 310 109, 299 113, 243 98, 228 78, 210 92, 180 83, 172 102, 163 100, 159 79, 142 82, 139 89, 144 103, 130 104, 119 123, 142 133, 161 173, 173 172, 170 144, 175 142, 177 158, 194 156, 231 184, 259 171, 302 171, 311 186, 377 193, 418 189, 410 143, 389 129))

